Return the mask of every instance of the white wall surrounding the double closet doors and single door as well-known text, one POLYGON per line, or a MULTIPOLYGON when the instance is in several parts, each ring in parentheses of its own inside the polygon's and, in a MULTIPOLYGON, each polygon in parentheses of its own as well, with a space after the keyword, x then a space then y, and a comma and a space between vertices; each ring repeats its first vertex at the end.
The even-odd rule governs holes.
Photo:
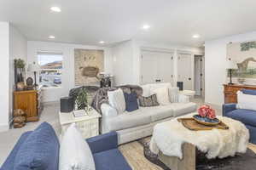
MULTIPOLYGON (((141 83, 141 49, 150 48, 174 52, 174 84, 177 82, 177 54, 179 52, 189 54, 203 54, 201 48, 189 48, 177 45, 142 42, 130 40, 121 42, 113 47, 113 76, 115 85, 140 84, 141 83), (116 68, 117 67, 117 68, 116 68)), ((193 58, 194 59, 194 56, 193 58)), ((194 60, 191 64, 194 70, 194 60)), ((194 74, 192 74, 194 75, 194 74)), ((192 80, 193 81, 193 80, 192 80)))

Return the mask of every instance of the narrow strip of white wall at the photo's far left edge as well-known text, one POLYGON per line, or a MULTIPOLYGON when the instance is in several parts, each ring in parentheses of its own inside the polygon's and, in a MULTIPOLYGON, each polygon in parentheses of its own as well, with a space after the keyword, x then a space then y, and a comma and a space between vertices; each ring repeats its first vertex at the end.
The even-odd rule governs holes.
POLYGON ((0 22, 0 132, 9 129, 9 23, 0 22))

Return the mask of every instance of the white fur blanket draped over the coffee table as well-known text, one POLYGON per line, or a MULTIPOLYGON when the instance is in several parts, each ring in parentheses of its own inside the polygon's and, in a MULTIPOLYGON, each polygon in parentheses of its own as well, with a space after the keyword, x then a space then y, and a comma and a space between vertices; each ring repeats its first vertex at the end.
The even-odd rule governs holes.
MULTIPOLYGON (((181 117, 191 117, 189 114, 181 117)), ((180 117, 179 117, 180 118, 180 117)), ((245 153, 249 139, 247 128, 238 121, 224 116, 218 116, 230 127, 229 130, 212 129, 210 131, 191 131, 183 127, 177 118, 160 122, 154 126, 150 141, 150 150, 158 154, 159 150, 166 156, 183 157, 182 144, 194 144, 198 150, 207 153, 207 158, 224 158, 235 156, 236 152, 245 153)))

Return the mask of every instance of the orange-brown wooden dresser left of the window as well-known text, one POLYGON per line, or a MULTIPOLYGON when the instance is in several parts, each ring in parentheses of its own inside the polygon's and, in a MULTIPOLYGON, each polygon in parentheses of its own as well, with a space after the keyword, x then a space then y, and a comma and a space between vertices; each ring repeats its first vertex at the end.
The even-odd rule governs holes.
POLYGON ((43 108, 41 88, 14 92, 14 109, 25 111, 26 122, 37 122, 43 108))

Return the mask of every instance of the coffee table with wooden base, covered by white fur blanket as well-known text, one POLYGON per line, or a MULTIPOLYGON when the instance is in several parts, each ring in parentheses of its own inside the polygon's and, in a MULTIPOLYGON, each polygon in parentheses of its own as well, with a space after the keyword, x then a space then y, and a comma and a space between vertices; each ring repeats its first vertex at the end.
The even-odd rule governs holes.
MULTIPOLYGON (((195 114, 197 113, 181 117, 191 117, 195 114)), ((196 148, 207 151, 207 158, 208 155, 214 158, 246 152, 249 139, 247 128, 241 122, 228 117, 218 118, 230 129, 192 131, 183 127, 181 122, 177 122, 177 118, 160 122, 154 126, 150 150, 154 154, 159 154, 160 161, 172 170, 195 170, 196 148), (218 152, 215 152, 215 148, 219 149, 218 152)))

